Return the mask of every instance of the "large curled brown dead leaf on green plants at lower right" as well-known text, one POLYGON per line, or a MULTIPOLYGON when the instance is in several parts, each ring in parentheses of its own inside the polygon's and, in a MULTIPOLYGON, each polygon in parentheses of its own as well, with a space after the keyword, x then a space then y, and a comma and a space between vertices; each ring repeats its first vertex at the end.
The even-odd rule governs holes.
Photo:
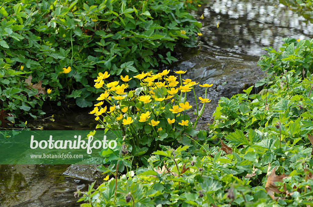
MULTIPOLYGON (((270 168, 270 166, 269 166, 270 168)), ((289 176, 289 175, 286 175, 286 174, 282 174, 282 175, 276 175, 275 174, 275 170, 276 170, 276 167, 272 169, 272 172, 271 174, 267 177, 267 182, 265 184, 265 190, 266 192, 269 194, 269 196, 273 199, 273 200, 276 200, 276 199, 279 199, 280 197, 275 197, 274 196, 274 193, 277 193, 277 194, 281 194, 283 192, 281 192, 278 188, 279 186, 276 186, 275 185, 275 182, 283 182, 283 178, 289 176)), ((269 170, 268 170, 269 172, 269 170)), ((281 198, 280 198, 281 199, 281 198)))

